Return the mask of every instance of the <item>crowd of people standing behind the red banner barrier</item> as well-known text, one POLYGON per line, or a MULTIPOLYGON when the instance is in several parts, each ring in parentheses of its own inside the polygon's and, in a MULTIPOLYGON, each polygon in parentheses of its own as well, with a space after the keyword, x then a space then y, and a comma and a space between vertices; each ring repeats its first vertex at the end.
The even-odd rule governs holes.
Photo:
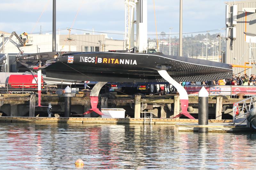
POLYGON ((232 75, 232 78, 223 79, 219 81, 202 81, 202 82, 180 82, 181 85, 256 85, 256 77, 251 74, 250 77, 247 74, 241 76, 240 73, 232 75))

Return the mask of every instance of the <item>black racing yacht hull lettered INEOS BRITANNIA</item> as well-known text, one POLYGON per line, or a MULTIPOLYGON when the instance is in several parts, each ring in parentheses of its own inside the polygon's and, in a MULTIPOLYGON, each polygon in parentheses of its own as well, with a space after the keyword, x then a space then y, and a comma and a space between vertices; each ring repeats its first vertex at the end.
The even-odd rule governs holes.
POLYGON ((177 82, 231 78, 232 65, 213 61, 153 54, 117 52, 44 52, 17 58, 17 69, 40 69, 46 77, 107 82, 166 82, 166 70, 177 82))

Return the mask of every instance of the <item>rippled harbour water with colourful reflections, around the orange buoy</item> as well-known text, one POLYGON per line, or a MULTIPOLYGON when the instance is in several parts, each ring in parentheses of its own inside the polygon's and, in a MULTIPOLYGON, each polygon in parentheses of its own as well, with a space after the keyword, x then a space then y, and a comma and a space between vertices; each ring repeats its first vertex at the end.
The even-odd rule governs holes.
POLYGON ((0 169, 256 169, 256 134, 170 125, 0 124, 0 169))

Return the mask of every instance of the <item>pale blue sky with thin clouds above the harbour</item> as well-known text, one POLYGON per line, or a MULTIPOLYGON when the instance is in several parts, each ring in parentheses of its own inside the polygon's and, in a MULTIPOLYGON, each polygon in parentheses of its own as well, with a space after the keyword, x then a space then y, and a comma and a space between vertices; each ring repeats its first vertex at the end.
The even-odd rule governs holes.
MULTIPOLYGON (((183 0, 183 33, 190 36, 191 32, 225 27, 225 2, 183 0)), ((171 36, 179 37, 179 10, 180 0, 155 0, 158 34, 169 34, 172 27, 171 34, 176 35, 171 36)), ((109 38, 123 40, 123 35, 110 33, 124 33, 124 25, 124 0, 56 0, 56 28, 61 29, 60 34, 68 34, 66 28, 71 26, 72 34, 88 33, 75 29, 92 31, 94 28, 107 32, 109 38)), ((40 26, 42 31, 52 30, 52 0, 0 0, 1 31, 38 33, 40 26)), ((148 0, 148 34, 156 34, 153 0, 148 0)), ((156 35, 148 37, 156 38, 156 35)))

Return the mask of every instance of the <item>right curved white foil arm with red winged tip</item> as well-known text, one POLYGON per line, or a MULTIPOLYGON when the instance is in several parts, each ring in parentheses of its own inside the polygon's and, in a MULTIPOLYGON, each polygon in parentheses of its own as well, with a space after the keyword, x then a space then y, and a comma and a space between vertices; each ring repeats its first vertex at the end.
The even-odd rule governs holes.
POLYGON ((158 70, 158 73, 170 84, 172 84, 177 91, 180 94, 180 104, 181 104, 181 113, 174 118, 180 117, 181 115, 185 115, 190 119, 195 119, 193 116, 191 116, 188 113, 188 93, 187 91, 180 85, 178 82, 176 82, 166 70, 158 70))

